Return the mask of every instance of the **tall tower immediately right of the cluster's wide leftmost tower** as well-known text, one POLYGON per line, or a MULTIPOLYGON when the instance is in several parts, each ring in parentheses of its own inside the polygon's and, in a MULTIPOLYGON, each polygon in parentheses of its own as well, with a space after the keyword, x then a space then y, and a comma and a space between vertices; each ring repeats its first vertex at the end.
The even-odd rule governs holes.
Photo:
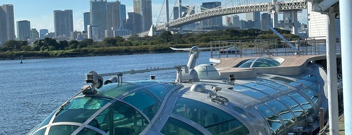
MULTIPOLYGON (((120 29, 121 27, 121 14, 120 14, 121 3, 119 1, 108 2, 108 29, 120 29)), ((106 35, 106 34, 105 34, 106 35)))

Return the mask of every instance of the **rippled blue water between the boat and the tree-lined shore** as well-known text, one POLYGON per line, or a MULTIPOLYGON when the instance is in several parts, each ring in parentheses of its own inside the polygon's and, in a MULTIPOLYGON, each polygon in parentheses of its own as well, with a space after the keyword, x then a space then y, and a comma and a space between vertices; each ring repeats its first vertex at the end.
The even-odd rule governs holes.
MULTIPOLYGON (((85 74, 144 70, 187 64, 189 52, 0 60, 0 134, 26 134, 61 103, 79 92, 85 74)), ((197 64, 209 63, 210 52, 200 53, 197 64)), ((124 75, 123 81, 173 81, 176 70, 124 75)), ((106 80, 108 78, 104 78, 106 80)))

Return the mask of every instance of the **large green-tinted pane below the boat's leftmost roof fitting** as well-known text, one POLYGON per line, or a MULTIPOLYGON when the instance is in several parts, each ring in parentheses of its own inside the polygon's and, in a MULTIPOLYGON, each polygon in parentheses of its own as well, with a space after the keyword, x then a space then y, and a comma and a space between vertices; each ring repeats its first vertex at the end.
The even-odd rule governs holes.
POLYGON ((99 97, 78 97, 69 101, 68 105, 60 110, 54 122, 85 122, 96 111, 107 104, 110 99, 99 97))

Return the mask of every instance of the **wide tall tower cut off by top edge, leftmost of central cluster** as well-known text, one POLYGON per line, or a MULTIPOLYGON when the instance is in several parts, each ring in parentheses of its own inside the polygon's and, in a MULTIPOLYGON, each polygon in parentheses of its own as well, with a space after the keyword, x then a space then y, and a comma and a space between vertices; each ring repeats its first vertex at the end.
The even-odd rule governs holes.
POLYGON ((90 1, 90 25, 99 28, 99 39, 105 38, 105 30, 109 29, 108 21, 108 2, 106 0, 90 1))

